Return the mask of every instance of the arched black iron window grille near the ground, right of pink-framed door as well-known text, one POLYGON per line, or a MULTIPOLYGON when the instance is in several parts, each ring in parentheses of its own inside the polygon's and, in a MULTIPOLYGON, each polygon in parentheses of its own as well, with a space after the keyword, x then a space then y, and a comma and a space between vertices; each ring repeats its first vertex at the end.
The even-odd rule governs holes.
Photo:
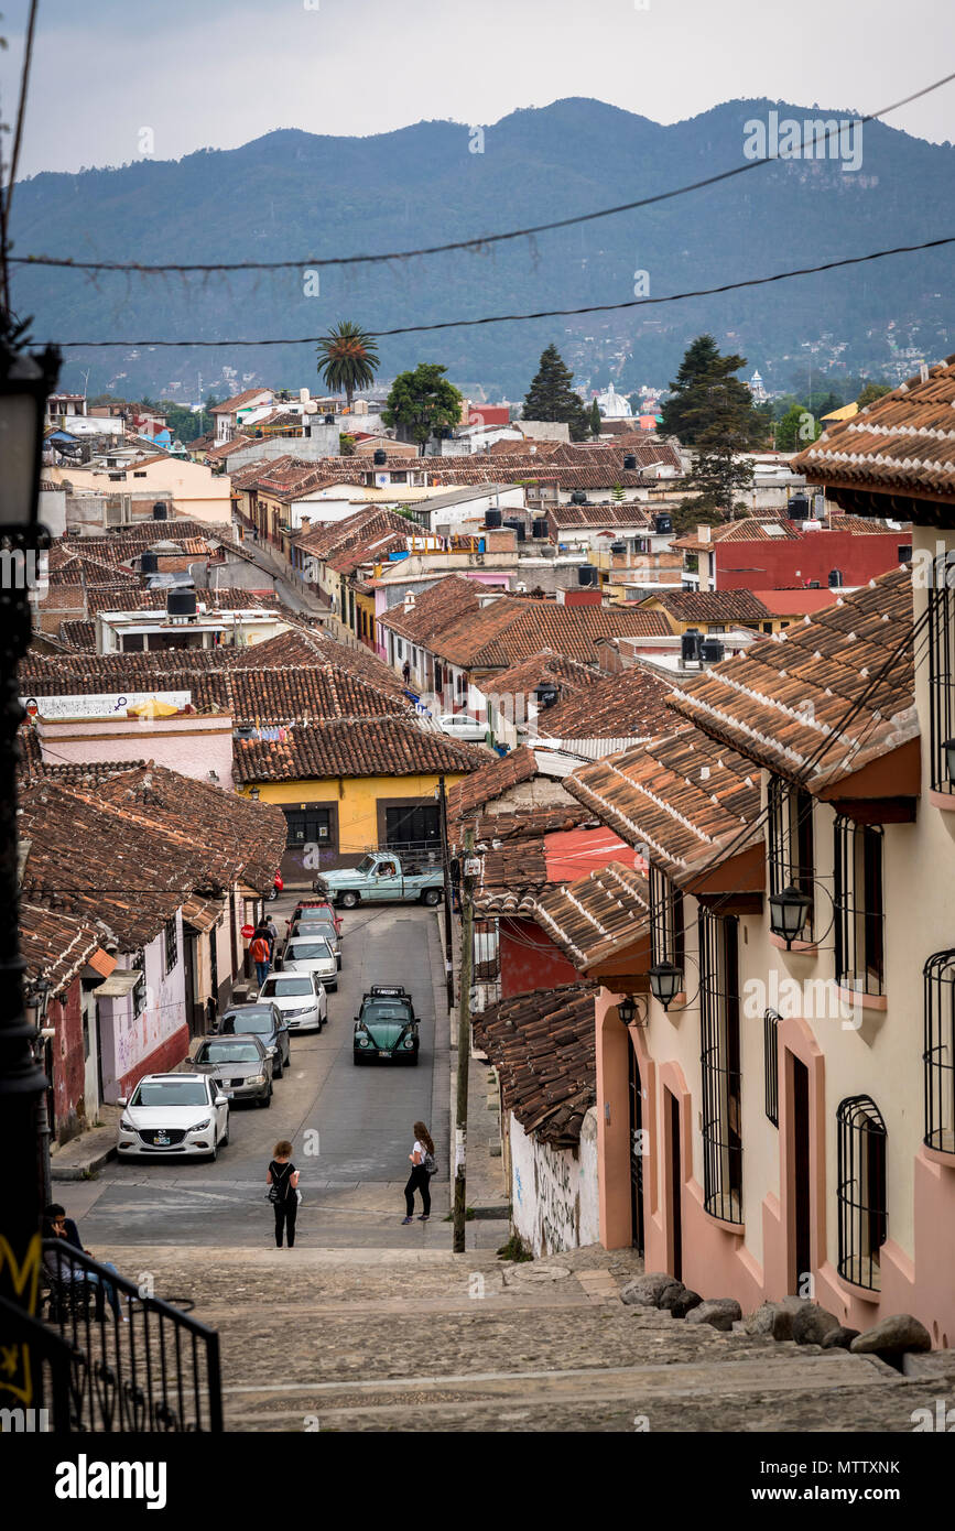
POLYGON ((839 1130, 839 1274, 877 1292, 882 1246, 889 1236, 886 1211, 888 1134, 878 1107, 868 1095, 840 1101, 839 1130))

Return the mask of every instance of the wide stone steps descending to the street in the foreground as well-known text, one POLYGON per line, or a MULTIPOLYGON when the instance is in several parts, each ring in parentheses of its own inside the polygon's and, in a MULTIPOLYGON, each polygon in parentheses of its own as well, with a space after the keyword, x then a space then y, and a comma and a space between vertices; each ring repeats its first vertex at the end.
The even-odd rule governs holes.
POLYGON ((125 1248, 222 1341, 230 1430, 869 1431, 955 1395, 882 1361, 624 1306, 629 1251, 125 1248))

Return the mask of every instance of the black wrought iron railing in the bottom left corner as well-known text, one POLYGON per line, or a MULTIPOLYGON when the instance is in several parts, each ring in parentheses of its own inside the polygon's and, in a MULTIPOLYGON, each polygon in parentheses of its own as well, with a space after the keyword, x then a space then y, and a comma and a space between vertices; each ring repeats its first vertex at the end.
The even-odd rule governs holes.
POLYGON ((58 1433, 222 1430, 219 1335, 63 1239, 43 1243, 43 1307, 3 1301, 29 1349, 34 1410, 58 1433))

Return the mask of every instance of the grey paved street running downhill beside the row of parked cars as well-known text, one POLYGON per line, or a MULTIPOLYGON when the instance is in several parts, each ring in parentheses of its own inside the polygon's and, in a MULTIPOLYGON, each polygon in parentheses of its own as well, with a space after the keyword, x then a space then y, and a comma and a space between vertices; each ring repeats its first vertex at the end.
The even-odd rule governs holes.
MULTIPOLYGON (((279 929, 297 900, 269 908, 279 929)), ((275 1082, 268 1112, 231 1112, 231 1139, 216 1164, 112 1162, 96 1180, 69 1188, 73 1216, 95 1251, 122 1262, 125 1245, 259 1248, 272 1240, 265 1171, 279 1138, 295 1145, 303 1202, 301 1248, 450 1248, 448 1020, 436 920, 415 905, 375 905, 343 914, 343 966, 328 997, 321 1033, 292 1036, 292 1069, 275 1082), (407 987, 421 1015, 416 1067, 352 1063, 352 1020, 372 983, 407 987), (436 1003, 438 1001, 438 1003, 436 1003), (432 1127, 441 1156, 430 1223, 401 1226, 403 1187, 415 1121, 432 1127)), ((490 1229, 488 1229, 490 1232, 490 1229)), ((494 1234, 499 1237, 499 1234, 494 1234)))

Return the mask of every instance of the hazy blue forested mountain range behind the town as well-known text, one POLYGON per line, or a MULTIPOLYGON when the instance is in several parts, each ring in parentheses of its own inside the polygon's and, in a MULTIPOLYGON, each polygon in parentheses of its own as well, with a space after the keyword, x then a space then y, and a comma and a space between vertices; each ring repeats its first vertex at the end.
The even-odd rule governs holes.
MULTIPOLYGON (((626 302, 865 254, 946 234, 955 149, 883 122, 865 127, 862 164, 794 158, 704 191, 481 253, 328 268, 305 295, 305 257, 403 251, 589 213, 745 164, 748 122, 851 118, 779 101, 727 101, 663 127, 591 100, 513 112, 485 129, 416 122, 372 138, 294 129, 242 149, 138 161, 80 175, 43 173, 14 199, 14 253, 138 262, 289 260, 300 271, 90 277, 14 268, 14 303, 35 340, 148 341, 320 335, 338 318, 375 332, 626 302)), ((810 133, 807 133, 807 138, 810 133)), ((848 141, 846 141, 848 153, 848 141)), ((911 357, 955 349, 952 246, 797 277, 709 299, 579 318, 455 328, 381 341, 381 377, 442 361, 488 398, 522 397, 556 340, 580 384, 626 392, 673 377, 687 341, 712 331, 768 387, 840 374, 906 377, 911 357), (814 352, 810 346, 816 346, 814 352), (908 357, 904 355, 908 352, 908 357)), ((254 383, 315 386, 309 344, 214 351, 70 351, 90 392, 194 398, 254 383), (222 369, 227 371, 223 374, 222 369)), ((80 372, 63 374, 64 387, 80 372)))

